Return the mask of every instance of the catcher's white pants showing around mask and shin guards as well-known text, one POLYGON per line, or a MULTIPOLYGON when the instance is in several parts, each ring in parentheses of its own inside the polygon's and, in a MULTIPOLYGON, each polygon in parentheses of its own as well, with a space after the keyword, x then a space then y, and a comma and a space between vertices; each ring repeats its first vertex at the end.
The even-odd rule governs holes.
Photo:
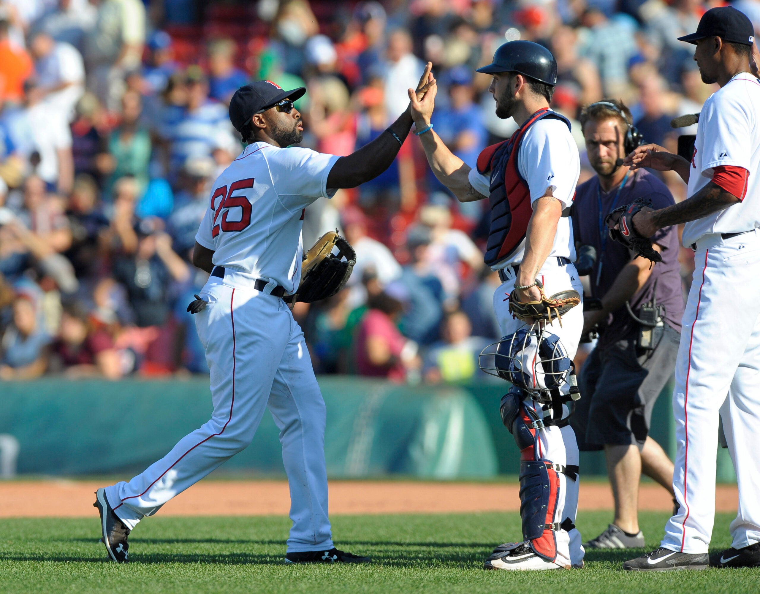
MULTIPOLYGON (((551 263, 550 263, 551 264, 551 263)), ((540 270, 539 277, 544 285, 546 295, 553 295, 556 292, 566 289, 575 289, 583 295, 583 286, 578 280, 578 273, 572 264, 564 267, 555 267, 546 265, 540 270)), ((514 275, 502 283, 493 297, 494 311, 499 321, 499 327, 502 330, 502 336, 508 336, 515 333, 521 327, 526 327, 523 321, 515 319, 509 313, 508 300, 505 298, 511 293, 515 286, 514 275)), ((554 321, 547 326, 549 332, 559 336, 565 353, 572 360, 575 358, 575 352, 578 350, 578 342, 581 339, 581 330, 583 330, 583 304, 572 308, 562 316, 562 325, 559 321, 554 321)), ((560 390, 562 393, 568 393, 569 386, 565 384, 560 390)), ((581 397, 583 395, 581 394, 581 397)), ((526 406, 540 410, 540 406, 534 406, 531 400, 525 400, 526 406)), ((567 406, 563 407, 564 416, 568 415, 567 406)), ((540 413, 543 416, 543 412, 540 413)), ((575 440, 575 432, 569 425, 567 427, 546 427, 539 429, 539 450, 537 456, 543 457, 552 463, 562 464, 562 466, 578 466, 580 455, 578 453, 578 443, 575 440)), ((559 473, 559 498, 555 510, 555 522, 562 523, 569 518, 575 524, 575 516, 578 513, 578 490, 580 487, 580 474, 575 480, 570 479, 561 472, 559 473)), ((577 528, 569 532, 559 530, 556 532, 557 542, 557 561, 563 565, 580 566, 584 558, 584 548, 582 545, 581 533, 577 528)))

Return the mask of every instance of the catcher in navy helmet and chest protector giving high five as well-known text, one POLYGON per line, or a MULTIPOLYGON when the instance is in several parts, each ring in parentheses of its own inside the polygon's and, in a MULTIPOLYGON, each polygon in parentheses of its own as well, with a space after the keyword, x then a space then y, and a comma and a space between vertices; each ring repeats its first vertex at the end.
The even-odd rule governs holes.
MULTIPOLYGON (((575 195, 580 161, 569 122, 549 109, 556 84, 556 62, 547 49, 527 41, 505 43, 496 50, 493 63, 478 71, 493 76, 489 90, 496 100, 496 115, 515 118, 520 128, 509 141, 483 150, 477 169, 470 169, 454 156, 432 130, 430 99, 435 87, 426 94, 424 102, 411 98, 412 114, 415 134, 423 141, 435 176, 459 201, 489 200, 491 226, 485 260, 492 270, 499 271, 502 280, 493 296, 493 307, 502 336, 509 336, 529 326, 509 312, 508 295, 512 292, 517 292, 521 302, 540 299, 536 286, 536 280, 540 280, 546 295, 568 289, 582 295, 572 264, 575 260, 572 225, 563 216, 575 195)), ((550 333, 559 336, 570 359, 575 356, 582 327, 582 307, 564 314, 561 325, 554 321, 548 326, 550 333)), ((534 385, 535 381, 534 377, 534 385)), ((527 398, 527 394, 518 395, 518 400, 530 407, 533 411, 530 414, 543 419, 543 424, 530 428, 535 444, 531 442, 526 447, 520 443, 518 431, 510 429, 524 461, 521 464, 524 541, 497 547, 484 568, 582 567, 584 550, 575 528, 580 480, 578 444, 568 426, 567 407, 562 406, 561 420, 549 422, 541 406, 527 398), (534 461, 546 464, 548 478, 527 476, 530 468, 538 466, 534 461), (531 497, 528 493, 532 488, 550 491, 549 503, 531 497)))

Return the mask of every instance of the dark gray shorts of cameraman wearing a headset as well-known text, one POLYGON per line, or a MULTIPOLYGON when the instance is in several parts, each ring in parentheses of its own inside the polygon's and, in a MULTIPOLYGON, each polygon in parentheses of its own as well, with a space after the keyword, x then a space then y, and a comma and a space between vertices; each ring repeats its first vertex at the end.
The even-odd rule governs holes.
POLYGON ((570 417, 580 450, 644 447, 652 408, 676 366, 680 337, 665 324, 657 348, 644 355, 637 353, 635 340, 597 347, 588 355, 578 378, 581 400, 570 417))

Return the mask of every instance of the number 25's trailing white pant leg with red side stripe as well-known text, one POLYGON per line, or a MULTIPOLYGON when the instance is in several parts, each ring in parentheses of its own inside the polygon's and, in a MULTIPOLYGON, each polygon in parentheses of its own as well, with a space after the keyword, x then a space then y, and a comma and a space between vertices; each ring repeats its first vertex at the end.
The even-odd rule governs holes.
POLYGON ((106 488, 109 504, 129 528, 251 443, 290 337, 293 318, 280 299, 221 284, 204 288, 202 296, 209 305, 195 318, 211 371, 214 413, 157 463, 106 488))

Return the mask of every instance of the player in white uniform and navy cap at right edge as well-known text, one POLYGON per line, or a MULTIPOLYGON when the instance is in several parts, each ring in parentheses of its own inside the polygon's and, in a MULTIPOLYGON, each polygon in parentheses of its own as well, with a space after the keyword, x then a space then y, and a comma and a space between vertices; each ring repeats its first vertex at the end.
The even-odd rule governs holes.
MULTIPOLYGON (((635 231, 686 223, 683 245, 695 271, 683 314, 673 414, 678 451, 673 489, 679 511, 660 548, 626 561, 627 570, 678 570, 760 565, 760 82, 752 59, 754 32, 734 8, 712 8, 694 43, 702 80, 717 90, 699 116, 692 162, 644 145, 629 155, 632 169, 672 169, 689 184, 689 198, 642 210, 635 231), (739 483, 733 546, 708 559, 715 513, 718 414, 739 483)), ((755 50, 756 51, 756 50, 755 50)))

